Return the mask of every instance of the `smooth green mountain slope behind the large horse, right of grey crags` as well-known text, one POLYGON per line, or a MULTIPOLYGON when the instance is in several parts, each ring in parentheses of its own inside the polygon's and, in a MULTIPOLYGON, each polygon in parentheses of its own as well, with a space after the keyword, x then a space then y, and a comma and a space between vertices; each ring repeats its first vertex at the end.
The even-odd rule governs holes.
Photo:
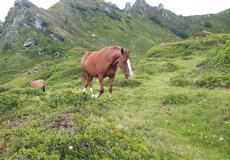
MULTIPOLYGON (((141 54, 150 44, 176 40, 176 36, 170 35, 169 30, 146 21, 140 15, 130 16, 116 6, 101 1, 62 0, 49 11, 60 16, 62 21, 69 22, 70 31, 80 28, 82 32, 87 33, 84 40, 95 39, 93 43, 97 48, 114 44, 134 49, 141 54)), ((75 42, 76 45, 79 38, 75 42)))

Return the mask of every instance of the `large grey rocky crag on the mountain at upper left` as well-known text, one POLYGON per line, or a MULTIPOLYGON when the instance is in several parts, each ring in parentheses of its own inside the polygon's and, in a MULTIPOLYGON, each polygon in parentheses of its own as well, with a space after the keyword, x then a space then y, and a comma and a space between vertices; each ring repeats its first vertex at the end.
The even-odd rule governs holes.
MULTIPOLYGON (((37 29, 42 34, 50 36, 53 40, 64 43, 64 39, 48 30, 48 23, 39 15, 33 14, 32 10, 38 9, 28 0, 16 0, 14 7, 10 9, 4 24, 0 23, 1 46, 14 47, 22 33, 37 29)), ((23 47, 31 48, 38 44, 34 38, 27 39, 23 47)))

